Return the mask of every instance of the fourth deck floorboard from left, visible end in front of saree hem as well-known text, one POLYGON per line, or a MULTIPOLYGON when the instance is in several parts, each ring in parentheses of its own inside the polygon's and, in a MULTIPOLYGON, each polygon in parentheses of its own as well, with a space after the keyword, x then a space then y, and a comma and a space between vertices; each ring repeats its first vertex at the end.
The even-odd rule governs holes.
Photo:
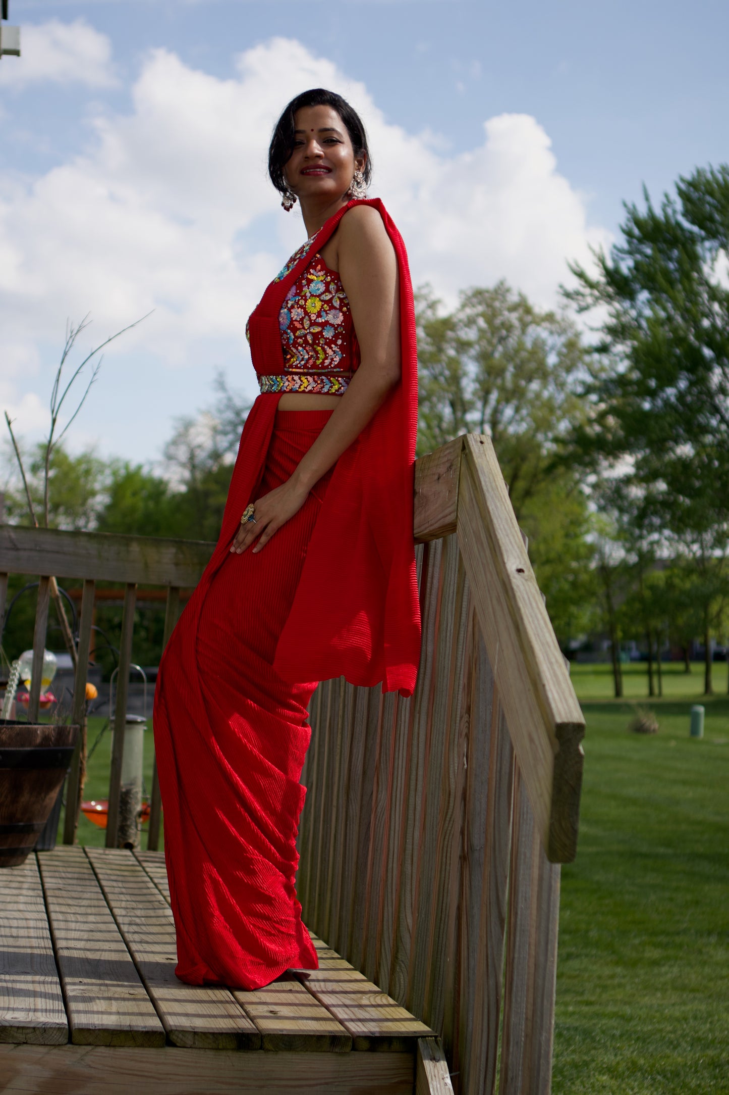
POLYGON ((345 1053, 352 1036, 291 972, 264 989, 233 991, 261 1035, 263 1049, 345 1053))

